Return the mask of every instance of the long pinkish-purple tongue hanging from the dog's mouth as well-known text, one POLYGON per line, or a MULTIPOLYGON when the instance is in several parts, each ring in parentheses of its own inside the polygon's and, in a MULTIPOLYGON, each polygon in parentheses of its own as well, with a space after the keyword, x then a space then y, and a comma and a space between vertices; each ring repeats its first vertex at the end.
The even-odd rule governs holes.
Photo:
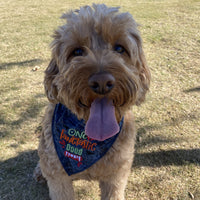
POLYGON ((95 99, 90 108, 90 116, 85 126, 89 138, 103 141, 119 132, 115 118, 115 108, 107 98, 95 99))

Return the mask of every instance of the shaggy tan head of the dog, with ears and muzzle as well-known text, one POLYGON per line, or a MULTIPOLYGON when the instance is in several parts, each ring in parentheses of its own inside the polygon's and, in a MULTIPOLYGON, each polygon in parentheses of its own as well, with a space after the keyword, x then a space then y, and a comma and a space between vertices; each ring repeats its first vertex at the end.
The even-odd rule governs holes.
POLYGON ((62 18, 67 23, 55 31, 45 72, 49 101, 63 103, 86 121, 93 112, 109 116, 114 108, 119 122, 130 106, 144 101, 149 89, 150 72, 136 22, 129 13, 103 4, 62 18))

